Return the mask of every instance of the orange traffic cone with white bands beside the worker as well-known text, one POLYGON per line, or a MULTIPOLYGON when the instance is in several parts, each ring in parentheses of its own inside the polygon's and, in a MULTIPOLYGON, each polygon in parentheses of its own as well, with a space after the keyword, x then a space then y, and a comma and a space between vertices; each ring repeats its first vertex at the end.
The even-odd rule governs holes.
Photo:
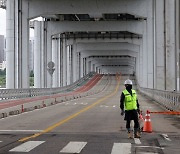
POLYGON ((143 132, 152 133, 150 112, 148 110, 147 110, 146 115, 145 115, 143 132))

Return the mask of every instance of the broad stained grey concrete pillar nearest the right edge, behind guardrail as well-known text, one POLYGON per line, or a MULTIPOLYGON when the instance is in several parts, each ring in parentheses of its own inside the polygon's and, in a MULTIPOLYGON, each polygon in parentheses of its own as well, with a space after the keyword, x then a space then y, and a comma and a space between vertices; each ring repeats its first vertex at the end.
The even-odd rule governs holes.
POLYGON ((165 90, 176 88, 176 59, 175 59, 175 0, 165 1, 166 24, 166 87, 165 90))

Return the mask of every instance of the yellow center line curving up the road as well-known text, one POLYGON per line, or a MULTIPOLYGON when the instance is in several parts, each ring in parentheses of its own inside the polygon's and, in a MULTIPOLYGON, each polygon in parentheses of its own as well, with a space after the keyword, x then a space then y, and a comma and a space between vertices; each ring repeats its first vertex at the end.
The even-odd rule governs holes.
POLYGON ((29 140, 29 139, 31 139, 31 138, 35 138, 35 137, 38 137, 38 136, 40 136, 40 135, 42 135, 42 134, 48 133, 48 132, 52 131, 53 129, 55 129, 56 127, 64 124, 65 122, 67 122, 67 121, 69 121, 69 120, 77 117, 77 116, 80 115, 81 113, 86 112, 87 110, 93 108, 94 106, 96 106, 97 104, 103 102, 104 100, 108 99, 109 97, 114 96, 114 95, 117 93, 117 91, 118 91, 118 89, 119 89, 119 85, 120 85, 120 80, 119 80, 119 78, 117 78, 117 81, 118 81, 118 84, 116 85, 115 90, 114 90, 112 93, 110 93, 109 95, 107 95, 107 96, 105 96, 105 97, 102 97, 101 99, 97 100, 96 102, 94 102, 93 104, 89 105, 88 107, 85 107, 84 109, 80 110, 79 112, 77 112, 77 113, 75 113, 75 114, 73 114, 73 115, 70 115, 69 117, 65 118, 64 120, 61 120, 61 121, 59 121, 58 123, 56 123, 56 124, 54 124, 54 125, 46 128, 46 129, 44 129, 42 132, 36 133, 36 134, 31 135, 31 136, 28 136, 28 137, 21 138, 21 139, 19 139, 19 141, 20 141, 20 142, 24 142, 24 141, 27 141, 27 140, 29 140))

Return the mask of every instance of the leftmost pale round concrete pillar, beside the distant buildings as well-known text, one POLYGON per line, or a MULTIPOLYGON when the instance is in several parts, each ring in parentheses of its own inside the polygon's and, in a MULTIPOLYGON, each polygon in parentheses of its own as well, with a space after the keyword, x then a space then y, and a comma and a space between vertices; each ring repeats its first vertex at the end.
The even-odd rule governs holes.
POLYGON ((6 2, 6 88, 15 88, 15 0, 6 2))

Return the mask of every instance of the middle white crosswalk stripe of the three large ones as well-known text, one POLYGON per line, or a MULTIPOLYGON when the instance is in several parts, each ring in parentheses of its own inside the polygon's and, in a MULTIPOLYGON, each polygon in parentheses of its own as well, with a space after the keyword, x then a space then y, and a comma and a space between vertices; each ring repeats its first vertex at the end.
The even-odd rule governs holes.
POLYGON ((80 153, 87 142, 69 142, 60 152, 64 153, 80 153))

